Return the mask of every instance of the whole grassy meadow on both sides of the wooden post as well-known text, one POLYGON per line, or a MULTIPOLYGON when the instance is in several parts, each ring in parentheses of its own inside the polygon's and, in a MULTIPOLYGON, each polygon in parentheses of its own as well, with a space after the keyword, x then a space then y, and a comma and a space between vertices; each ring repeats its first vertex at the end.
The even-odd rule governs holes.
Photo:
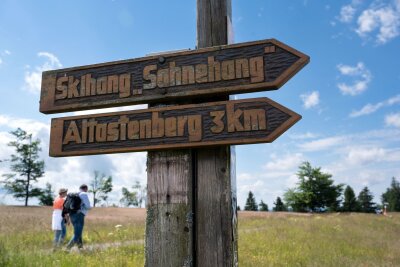
MULTIPOLYGON (((51 213, 0 206, 0 266, 144 265, 144 209, 91 210, 70 253, 52 251, 51 213)), ((239 266, 400 266, 400 214, 239 212, 239 266)))

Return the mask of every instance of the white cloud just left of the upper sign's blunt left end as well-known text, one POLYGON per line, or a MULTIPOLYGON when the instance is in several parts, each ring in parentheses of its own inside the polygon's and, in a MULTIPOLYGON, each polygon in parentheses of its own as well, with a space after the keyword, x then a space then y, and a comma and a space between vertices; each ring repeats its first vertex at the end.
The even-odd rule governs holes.
POLYGON ((45 62, 41 66, 37 66, 34 71, 25 72, 24 89, 31 93, 39 93, 42 82, 42 72, 62 67, 58 58, 49 52, 39 52, 38 57, 44 58, 45 62))

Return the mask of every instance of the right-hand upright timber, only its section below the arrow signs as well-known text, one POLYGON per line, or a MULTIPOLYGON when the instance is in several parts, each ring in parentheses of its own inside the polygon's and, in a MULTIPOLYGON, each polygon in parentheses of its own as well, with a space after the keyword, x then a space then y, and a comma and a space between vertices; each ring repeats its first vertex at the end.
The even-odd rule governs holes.
POLYGON ((235 266, 237 216, 229 146, 197 149, 197 266, 235 266))

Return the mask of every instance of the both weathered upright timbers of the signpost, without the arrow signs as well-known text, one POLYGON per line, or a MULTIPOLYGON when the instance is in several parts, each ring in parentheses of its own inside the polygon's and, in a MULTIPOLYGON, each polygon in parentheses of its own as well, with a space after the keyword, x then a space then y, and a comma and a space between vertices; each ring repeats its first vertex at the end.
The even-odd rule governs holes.
MULTIPOLYGON (((230 0, 197 0, 197 47, 228 44, 230 23, 230 0)), ((232 151, 148 152, 145 266, 237 266, 232 151)))

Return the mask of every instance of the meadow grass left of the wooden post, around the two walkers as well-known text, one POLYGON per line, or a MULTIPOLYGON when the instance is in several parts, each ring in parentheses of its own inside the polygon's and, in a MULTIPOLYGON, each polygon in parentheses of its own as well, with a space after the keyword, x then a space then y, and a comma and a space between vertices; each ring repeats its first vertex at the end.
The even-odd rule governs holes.
MULTIPOLYGON (((88 248, 96 247, 81 253, 53 252, 51 212, 42 207, 0 207, 0 266, 144 265, 143 211, 138 214, 133 209, 93 210, 85 222, 84 243, 88 248), (97 247, 112 243, 122 245, 97 247)), ((69 227, 67 239, 71 235, 69 227)))

